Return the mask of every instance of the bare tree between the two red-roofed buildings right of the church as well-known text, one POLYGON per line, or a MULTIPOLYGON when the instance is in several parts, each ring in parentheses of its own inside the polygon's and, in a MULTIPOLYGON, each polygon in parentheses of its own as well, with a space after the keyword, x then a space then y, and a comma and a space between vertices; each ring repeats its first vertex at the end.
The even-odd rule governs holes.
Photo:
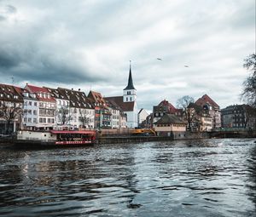
POLYGON ((182 98, 177 100, 177 107, 183 109, 183 116, 188 122, 188 129, 190 131, 192 120, 195 117, 195 109, 193 107, 189 107, 189 105, 194 104, 194 102, 194 98, 189 95, 184 95, 182 98))

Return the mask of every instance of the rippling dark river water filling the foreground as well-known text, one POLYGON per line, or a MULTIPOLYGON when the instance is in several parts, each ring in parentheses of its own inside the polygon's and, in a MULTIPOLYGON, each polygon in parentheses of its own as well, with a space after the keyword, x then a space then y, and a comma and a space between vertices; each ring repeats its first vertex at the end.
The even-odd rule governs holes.
POLYGON ((0 148, 1 216, 256 216, 254 140, 0 148))

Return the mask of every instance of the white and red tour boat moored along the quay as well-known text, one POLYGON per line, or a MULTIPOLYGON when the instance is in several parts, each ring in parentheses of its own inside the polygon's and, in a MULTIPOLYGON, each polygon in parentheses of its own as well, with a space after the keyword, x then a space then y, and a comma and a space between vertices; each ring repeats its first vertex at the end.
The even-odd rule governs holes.
POLYGON ((20 130, 15 145, 23 146, 84 146, 94 144, 95 130, 20 130))

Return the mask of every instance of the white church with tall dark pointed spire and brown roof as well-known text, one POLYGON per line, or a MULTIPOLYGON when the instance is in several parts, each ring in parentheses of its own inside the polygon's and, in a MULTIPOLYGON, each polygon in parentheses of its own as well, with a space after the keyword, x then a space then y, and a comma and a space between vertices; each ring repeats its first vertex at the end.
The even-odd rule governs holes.
POLYGON ((124 111, 127 117, 126 124, 128 128, 137 128, 137 90, 134 88, 132 81, 131 65, 128 84, 123 90, 123 96, 106 97, 105 99, 117 104, 121 111, 124 111))

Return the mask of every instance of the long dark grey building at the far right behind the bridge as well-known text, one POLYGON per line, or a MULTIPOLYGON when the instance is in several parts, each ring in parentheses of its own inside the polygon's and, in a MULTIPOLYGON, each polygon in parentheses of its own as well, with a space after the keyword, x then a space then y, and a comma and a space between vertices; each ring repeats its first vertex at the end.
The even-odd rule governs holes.
POLYGON ((256 110, 245 104, 225 107, 221 119, 223 128, 256 128, 256 110))

